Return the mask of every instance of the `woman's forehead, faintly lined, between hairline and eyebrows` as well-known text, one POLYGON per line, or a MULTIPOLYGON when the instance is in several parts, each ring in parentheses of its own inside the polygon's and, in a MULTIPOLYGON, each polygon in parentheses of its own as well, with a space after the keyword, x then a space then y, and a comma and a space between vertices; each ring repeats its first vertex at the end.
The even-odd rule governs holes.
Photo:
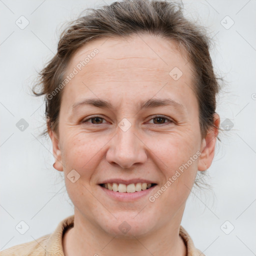
POLYGON ((151 97, 169 89, 191 93, 192 72, 186 54, 181 54, 174 41, 149 34, 92 40, 73 54, 66 74, 74 69, 77 73, 64 89, 73 100, 82 99, 83 91, 100 97, 109 91, 130 96, 148 91, 151 97))

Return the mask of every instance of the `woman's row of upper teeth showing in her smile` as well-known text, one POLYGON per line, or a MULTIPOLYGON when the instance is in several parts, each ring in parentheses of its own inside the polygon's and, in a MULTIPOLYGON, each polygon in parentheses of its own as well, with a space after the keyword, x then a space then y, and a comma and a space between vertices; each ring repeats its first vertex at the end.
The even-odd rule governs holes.
POLYGON ((115 192, 127 192, 133 193, 135 191, 145 190, 149 188, 151 183, 131 183, 131 184, 122 184, 122 183, 105 183, 103 186, 109 190, 113 190, 115 192))

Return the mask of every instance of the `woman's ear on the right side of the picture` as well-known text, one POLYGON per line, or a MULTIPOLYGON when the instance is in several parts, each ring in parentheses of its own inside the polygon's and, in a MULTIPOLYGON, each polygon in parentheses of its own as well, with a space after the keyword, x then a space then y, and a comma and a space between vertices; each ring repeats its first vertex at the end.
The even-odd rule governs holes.
POLYGON ((219 115, 217 113, 214 113, 213 120, 215 127, 210 127, 210 129, 207 131, 207 134, 205 135, 201 142, 201 155, 198 160, 198 170, 201 171, 209 168, 214 157, 214 149, 220 121, 219 115))

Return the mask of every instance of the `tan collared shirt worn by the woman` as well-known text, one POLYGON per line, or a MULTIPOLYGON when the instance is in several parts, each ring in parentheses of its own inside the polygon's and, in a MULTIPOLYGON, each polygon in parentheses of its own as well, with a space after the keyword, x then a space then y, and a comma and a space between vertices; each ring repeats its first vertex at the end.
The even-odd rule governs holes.
MULTIPOLYGON (((64 256, 62 236, 69 227, 73 226, 73 223, 74 215, 68 216, 59 222, 53 233, 41 236, 36 241, 21 243, 2 250, 0 256, 64 256)), ((187 256, 205 256, 194 247, 191 237, 182 226, 179 228, 179 234, 185 242, 187 256)))

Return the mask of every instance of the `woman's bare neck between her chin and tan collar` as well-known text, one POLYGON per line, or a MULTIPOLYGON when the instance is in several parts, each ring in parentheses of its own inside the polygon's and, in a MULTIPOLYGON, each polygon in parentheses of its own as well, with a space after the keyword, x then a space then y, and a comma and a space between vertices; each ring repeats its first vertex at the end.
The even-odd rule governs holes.
MULTIPOLYGON (((76 214, 78 213, 78 214, 76 214)), ((176 214, 170 222, 142 236, 114 236, 99 230, 93 222, 74 214, 74 226, 68 229, 62 239, 65 256, 108 256, 123 255, 173 255, 185 256, 186 246, 179 235, 179 219, 176 214)))

